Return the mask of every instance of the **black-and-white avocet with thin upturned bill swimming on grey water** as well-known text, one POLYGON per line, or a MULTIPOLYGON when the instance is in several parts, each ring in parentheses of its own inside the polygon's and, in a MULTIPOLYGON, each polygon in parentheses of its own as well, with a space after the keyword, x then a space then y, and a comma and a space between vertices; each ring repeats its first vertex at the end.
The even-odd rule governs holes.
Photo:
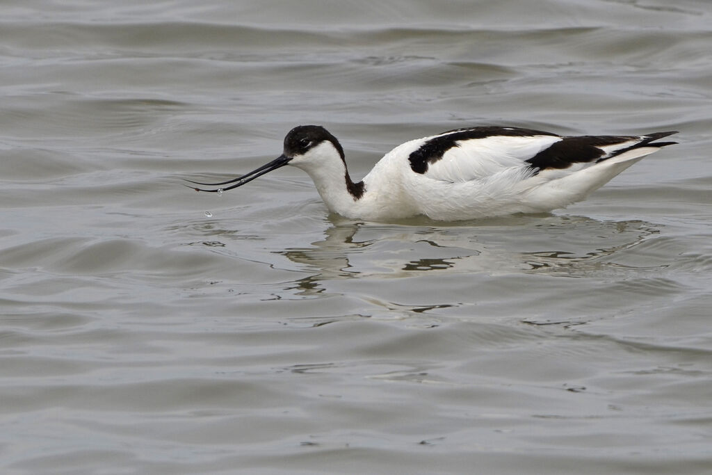
POLYGON ((585 199, 646 155, 676 144, 656 142, 676 133, 562 136, 523 127, 464 127, 404 142, 354 182, 337 138, 320 125, 299 125, 284 138, 276 160, 224 182, 186 180, 192 183, 186 186, 221 194, 291 165, 307 172, 330 212, 349 219, 539 214, 585 199))

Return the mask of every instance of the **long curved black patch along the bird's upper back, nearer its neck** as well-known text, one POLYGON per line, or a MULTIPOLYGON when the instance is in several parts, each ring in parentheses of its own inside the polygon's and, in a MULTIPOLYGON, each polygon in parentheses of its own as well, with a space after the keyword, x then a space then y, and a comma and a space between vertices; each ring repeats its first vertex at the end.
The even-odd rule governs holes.
POLYGON ((457 147, 458 140, 484 139, 495 136, 528 137, 531 135, 550 135, 559 137, 551 132, 521 129, 519 127, 468 127, 449 130, 443 132, 443 134, 426 141, 418 150, 409 155, 410 167, 414 172, 420 174, 427 172, 431 163, 437 162, 445 155, 445 152, 457 147))

